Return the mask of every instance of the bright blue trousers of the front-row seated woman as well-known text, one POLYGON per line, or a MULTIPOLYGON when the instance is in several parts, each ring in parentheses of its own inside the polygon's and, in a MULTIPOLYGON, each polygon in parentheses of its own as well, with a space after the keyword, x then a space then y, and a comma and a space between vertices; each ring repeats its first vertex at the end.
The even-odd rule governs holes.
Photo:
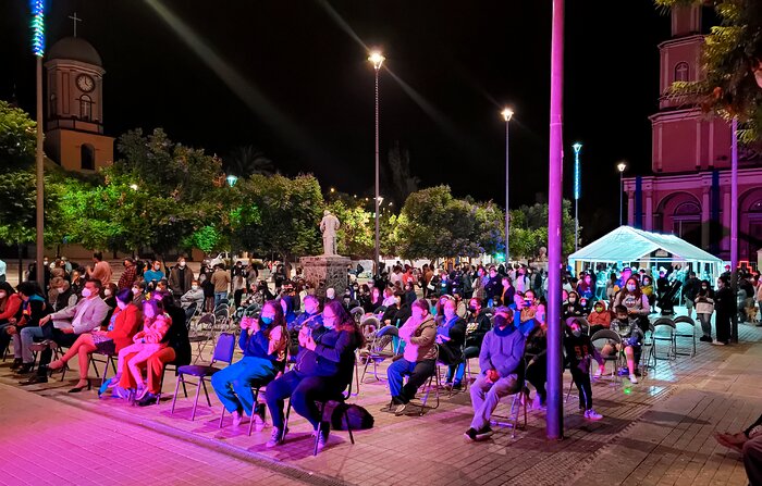
POLYGON ((245 411, 253 414, 254 392, 251 386, 267 385, 275 377, 275 366, 265 358, 245 356, 230 366, 211 376, 211 386, 229 412, 245 411))

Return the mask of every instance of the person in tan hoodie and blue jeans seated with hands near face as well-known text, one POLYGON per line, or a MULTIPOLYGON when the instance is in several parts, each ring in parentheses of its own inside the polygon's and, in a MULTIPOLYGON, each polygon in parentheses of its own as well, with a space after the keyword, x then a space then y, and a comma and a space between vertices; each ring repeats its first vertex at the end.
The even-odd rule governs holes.
POLYGON ((405 412, 407 403, 437 370, 437 324, 429 312, 426 299, 416 300, 410 308, 411 315, 400 328, 400 339, 405 341, 402 359, 386 370, 394 413, 405 412), (403 377, 409 375, 403 386, 403 377))

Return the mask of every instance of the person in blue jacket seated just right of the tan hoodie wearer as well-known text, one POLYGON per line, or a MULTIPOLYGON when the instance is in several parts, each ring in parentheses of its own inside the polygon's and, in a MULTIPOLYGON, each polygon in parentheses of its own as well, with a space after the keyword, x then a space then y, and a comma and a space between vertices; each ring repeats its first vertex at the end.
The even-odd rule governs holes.
POLYGON ((445 387, 459 390, 463 387, 463 375, 466 371, 466 363, 463 360, 466 321, 457 315, 457 303, 454 299, 447 299, 444 302, 443 314, 438 315, 435 321, 439 361, 448 365, 445 387))

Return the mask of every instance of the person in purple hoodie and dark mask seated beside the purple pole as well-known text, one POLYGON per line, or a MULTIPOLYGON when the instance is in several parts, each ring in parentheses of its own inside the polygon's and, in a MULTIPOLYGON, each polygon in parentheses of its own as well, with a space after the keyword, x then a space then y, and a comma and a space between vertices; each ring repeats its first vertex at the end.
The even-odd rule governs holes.
POLYGON ((465 434, 468 440, 489 437, 492 434, 490 418, 500 399, 519 392, 524 386, 525 337, 513 324, 512 317, 495 315, 495 325, 481 345, 481 374, 470 391, 474 420, 465 434))

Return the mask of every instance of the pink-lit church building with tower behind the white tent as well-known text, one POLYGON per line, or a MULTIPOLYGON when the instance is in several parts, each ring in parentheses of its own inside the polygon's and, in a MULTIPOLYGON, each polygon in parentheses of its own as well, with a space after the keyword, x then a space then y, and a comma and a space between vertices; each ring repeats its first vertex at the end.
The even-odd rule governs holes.
MULTIPOLYGON (((699 107, 666 97, 673 82, 699 80, 701 8, 672 12, 672 38, 660 43, 662 97, 652 127, 652 175, 626 177, 627 222, 636 228, 672 233, 730 258, 730 125, 699 107)), ((757 262, 762 249, 762 160, 738 149, 739 261, 757 262)))

